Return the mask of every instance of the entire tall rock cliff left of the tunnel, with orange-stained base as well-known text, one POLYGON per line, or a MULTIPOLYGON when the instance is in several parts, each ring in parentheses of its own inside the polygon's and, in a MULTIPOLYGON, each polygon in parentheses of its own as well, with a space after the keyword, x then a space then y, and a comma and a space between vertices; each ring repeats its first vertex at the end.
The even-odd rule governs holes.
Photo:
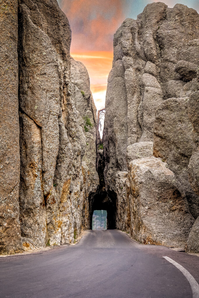
POLYGON ((96 108, 87 70, 70 58, 65 14, 56 0, 6 2, 0 252, 13 253, 73 243, 99 179, 96 108))

